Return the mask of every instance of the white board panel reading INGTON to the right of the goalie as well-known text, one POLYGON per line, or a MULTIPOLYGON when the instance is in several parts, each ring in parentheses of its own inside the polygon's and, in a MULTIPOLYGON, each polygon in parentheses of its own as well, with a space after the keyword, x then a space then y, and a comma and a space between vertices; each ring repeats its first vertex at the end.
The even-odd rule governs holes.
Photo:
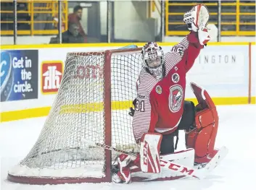
POLYGON ((247 96, 248 50, 248 46, 232 45, 203 48, 186 75, 186 97, 194 97, 190 82, 209 90, 213 97, 247 96))

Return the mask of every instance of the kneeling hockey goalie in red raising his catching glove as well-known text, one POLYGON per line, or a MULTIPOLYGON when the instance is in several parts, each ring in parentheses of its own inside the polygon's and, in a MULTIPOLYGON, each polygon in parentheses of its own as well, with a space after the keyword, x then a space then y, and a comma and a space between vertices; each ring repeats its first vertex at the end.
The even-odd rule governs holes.
POLYGON ((207 164, 217 154, 218 158, 225 156, 226 153, 221 155, 215 149, 218 113, 210 95, 191 83, 198 104, 184 99, 186 73, 212 35, 207 27, 208 19, 205 5, 192 7, 183 16, 190 33, 170 52, 163 53, 154 42, 143 47, 141 58, 144 67, 137 81, 137 98, 133 101, 135 108, 131 108, 130 113, 140 152, 133 157, 128 154, 117 157, 112 181, 131 183, 133 178, 146 181, 183 178, 188 175, 178 173, 181 167, 178 164, 209 169, 207 164), (185 131, 187 149, 175 152, 179 130, 185 131), (169 161, 177 165, 165 167, 169 161))

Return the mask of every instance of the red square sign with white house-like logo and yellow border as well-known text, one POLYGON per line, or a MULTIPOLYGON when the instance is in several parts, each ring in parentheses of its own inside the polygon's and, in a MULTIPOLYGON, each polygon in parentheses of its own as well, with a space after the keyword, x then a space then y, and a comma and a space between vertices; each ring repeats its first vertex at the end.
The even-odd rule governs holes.
POLYGON ((43 61, 41 64, 42 94, 56 94, 62 80, 64 65, 62 61, 43 61))

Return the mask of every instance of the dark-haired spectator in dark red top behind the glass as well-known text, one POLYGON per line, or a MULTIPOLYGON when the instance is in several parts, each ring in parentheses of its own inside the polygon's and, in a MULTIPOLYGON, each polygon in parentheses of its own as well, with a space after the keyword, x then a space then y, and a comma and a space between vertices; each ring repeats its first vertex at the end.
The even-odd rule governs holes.
POLYGON ((83 7, 80 7, 80 5, 75 6, 73 9, 73 13, 68 15, 68 22, 70 23, 76 23, 79 27, 79 33, 83 36, 84 42, 86 42, 86 33, 83 30, 83 27, 80 23, 80 20, 82 19, 83 14, 83 7))

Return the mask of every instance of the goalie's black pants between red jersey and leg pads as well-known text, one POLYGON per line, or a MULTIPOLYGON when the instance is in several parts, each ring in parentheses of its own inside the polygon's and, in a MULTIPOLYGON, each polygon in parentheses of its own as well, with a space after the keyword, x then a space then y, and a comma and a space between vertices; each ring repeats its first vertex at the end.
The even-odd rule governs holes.
POLYGON ((171 134, 162 134, 162 142, 160 145, 160 154, 170 154, 173 153, 177 147, 178 143, 178 130, 189 130, 189 127, 194 123, 194 118, 196 115, 194 103, 191 101, 184 101, 183 114, 181 117, 181 122, 178 124, 178 128, 171 134), (176 137, 176 145, 174 147, 174 137, 176 137))

